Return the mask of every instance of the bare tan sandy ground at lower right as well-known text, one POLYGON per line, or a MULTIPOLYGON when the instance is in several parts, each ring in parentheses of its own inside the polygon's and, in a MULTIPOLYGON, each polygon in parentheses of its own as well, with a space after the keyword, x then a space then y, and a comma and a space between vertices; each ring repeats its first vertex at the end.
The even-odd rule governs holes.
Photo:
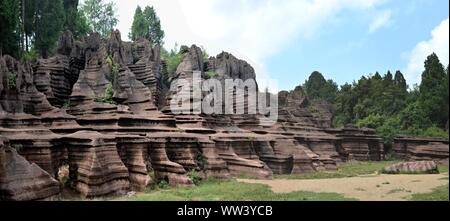
POLYGON ((239 182, 269 185, 275 193, 309 191, 339 193, 363 201, 403 201, 412 194, 428 193, 449 183, 447 174, 436 175, 368 175, 316 180, 248 180, 239 182))

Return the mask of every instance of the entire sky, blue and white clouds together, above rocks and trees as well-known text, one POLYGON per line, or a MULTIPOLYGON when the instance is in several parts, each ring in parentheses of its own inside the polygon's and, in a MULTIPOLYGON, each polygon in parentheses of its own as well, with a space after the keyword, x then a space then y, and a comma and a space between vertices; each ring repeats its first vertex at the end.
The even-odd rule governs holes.
MULTIPOLYGON (((114 0, 110 0, 114 1, 114 0)), ((420 83, 435 51, 449 60, 448 0, 114 1, 127 38, 137 5, 152 5, 165 47, 197 44, 248 61, 260 87, 292 90, 315 70, 338 84, 401 70, 420 83)))

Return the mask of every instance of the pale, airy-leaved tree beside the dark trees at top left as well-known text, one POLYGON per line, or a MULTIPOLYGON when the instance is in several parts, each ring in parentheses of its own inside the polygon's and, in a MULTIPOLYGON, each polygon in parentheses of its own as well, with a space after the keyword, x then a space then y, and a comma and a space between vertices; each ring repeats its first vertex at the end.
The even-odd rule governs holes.
POLYGON ((90 30, 98 32, 102 37, 109 36, 119 22, 114 2, 86 0, 81 8, 90 30))

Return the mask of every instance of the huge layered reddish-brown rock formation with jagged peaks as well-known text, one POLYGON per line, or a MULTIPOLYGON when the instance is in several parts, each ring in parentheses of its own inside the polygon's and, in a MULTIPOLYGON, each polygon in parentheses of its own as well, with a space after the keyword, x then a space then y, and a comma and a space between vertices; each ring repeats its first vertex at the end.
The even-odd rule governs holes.
MULTIPOLYGON (((169 89, 183 86, 180 80, 192 80, 196 71, 222 83, 256 78, 254 69, 232 54, 204 60, 195 45, 182 47, 181 53, 183 61, 169 76, 160 48, 147 40, 123 42, 115 31, 109 39, 93 33, 78 42, 65 32, 57 54, 33 68, 1 57, 0 135, 20 148, 16 153, 2 147, 0 163, 18 162, 34 171, 0 170, 1 190, 9 191, 4 199, 58 195, 59 184, 58 189, 53 185, 62 165, 69 166, 69 187, 84 197, 98 197, 142 191, 162 181, 194 186, 194 171, 203 179, 243 174, 270 179, 273 174, 335 170, 349 159, 383 159, 373 131, 329 129, 331 118, 319 119, 310 110, 301 87, 279 93, 279 119, 273 126, 260 125, 262 115, 248 111, 174 114, 169 105, 176 90, 169 89), (36 176, 39 182, 26 184, 36 185, 29 196, 9 190, 8 183, 36 176), (40 180, 51 187, 41 188, 46 194, 38 188, 40 180)), ((187 110, 201 100, 190 102, 187 110)), ((248 95, 233 101, 233 109, 252 105, 248 95)))

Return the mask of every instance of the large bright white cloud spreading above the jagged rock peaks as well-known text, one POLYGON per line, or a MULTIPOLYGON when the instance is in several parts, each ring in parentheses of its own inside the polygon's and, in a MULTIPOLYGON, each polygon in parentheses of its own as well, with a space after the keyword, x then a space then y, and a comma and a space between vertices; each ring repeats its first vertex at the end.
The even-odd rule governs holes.
MULTIPOLYGON (((166 33, 166 47, 204 46, 247 60, 258 81, 269 77, 264 61, 298 37, 314 37, 344 10, 374 9, 386 0, 127 0, 118 6, 119 30, 125 39, 137 5, 153 5, 166 33)), ((389 16, 387 16, 389 17, 389 16)), ((383 19, 379 21, 383 23, 383 19)), ((275 75, 273 75, 275 76, 275 75)))

